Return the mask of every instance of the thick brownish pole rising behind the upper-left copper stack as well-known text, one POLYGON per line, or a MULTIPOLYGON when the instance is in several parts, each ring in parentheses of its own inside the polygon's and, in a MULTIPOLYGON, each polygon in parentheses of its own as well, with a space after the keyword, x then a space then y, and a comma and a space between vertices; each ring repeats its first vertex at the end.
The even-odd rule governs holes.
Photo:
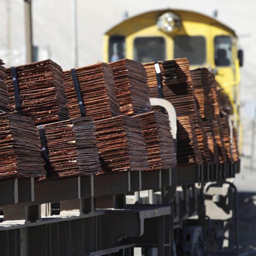
POLYGON ((25 38, 26 38, 26 63, 33 62, 33 34, 32 34, 32 0, 25 2, 25 38))

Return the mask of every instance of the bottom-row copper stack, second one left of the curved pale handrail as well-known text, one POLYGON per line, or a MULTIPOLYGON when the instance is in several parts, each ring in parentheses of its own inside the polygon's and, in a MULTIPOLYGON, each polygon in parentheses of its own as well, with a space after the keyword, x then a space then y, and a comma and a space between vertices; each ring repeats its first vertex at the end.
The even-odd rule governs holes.
POLYGON ((140 119, 116 116, 94 123, 101 173, 148 169, 140 119))

